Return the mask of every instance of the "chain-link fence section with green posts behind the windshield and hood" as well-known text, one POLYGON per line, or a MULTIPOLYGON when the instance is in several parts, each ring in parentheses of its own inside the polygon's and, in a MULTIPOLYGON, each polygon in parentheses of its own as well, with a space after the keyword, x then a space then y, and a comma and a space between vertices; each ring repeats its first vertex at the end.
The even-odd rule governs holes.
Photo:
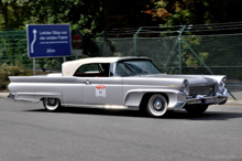
POLYGON ((227 75, 242 99, 242 34, 103 39, 102 56, 148 56, 167 74, 227 75), (135 49, 136 46, 136 49, 135 49))

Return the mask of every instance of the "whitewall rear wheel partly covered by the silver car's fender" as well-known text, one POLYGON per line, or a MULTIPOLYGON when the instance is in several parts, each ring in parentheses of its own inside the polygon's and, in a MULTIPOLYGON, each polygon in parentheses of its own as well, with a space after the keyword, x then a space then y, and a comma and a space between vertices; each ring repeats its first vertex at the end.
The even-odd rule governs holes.
POLYGON ((62 107, 58 98, 44 98, 43 104, 48 111, 56 111, 62 107))

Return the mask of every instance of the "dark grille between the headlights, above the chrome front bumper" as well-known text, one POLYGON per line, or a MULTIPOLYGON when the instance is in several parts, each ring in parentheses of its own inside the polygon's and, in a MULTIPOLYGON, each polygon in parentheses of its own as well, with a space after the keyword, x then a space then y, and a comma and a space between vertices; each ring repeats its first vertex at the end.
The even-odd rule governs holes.
POLYGON ((197 87, 190 87, 189 94, 193 97, 196 97, 197 95, 206 95, 206 96, 215 96, 215 86, 197 86, 197 87))

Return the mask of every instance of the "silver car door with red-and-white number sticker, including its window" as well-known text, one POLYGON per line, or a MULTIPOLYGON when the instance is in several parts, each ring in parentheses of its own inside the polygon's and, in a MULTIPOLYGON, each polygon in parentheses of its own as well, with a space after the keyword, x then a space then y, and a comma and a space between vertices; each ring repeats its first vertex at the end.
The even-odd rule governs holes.
POLYGON ((92 63, 80 66, 76 76, 84 78, 86 105, 123 105, 122 78, 110 75, 109 63, 92 63))

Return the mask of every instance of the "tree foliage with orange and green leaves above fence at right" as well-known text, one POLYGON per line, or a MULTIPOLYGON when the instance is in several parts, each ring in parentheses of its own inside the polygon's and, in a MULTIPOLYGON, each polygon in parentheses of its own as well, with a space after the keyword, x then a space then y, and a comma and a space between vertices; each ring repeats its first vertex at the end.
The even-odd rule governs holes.
POLYGON ((145 11, 160 24, 208 24, 242 21, 238 0, 153 0, 145 11))

